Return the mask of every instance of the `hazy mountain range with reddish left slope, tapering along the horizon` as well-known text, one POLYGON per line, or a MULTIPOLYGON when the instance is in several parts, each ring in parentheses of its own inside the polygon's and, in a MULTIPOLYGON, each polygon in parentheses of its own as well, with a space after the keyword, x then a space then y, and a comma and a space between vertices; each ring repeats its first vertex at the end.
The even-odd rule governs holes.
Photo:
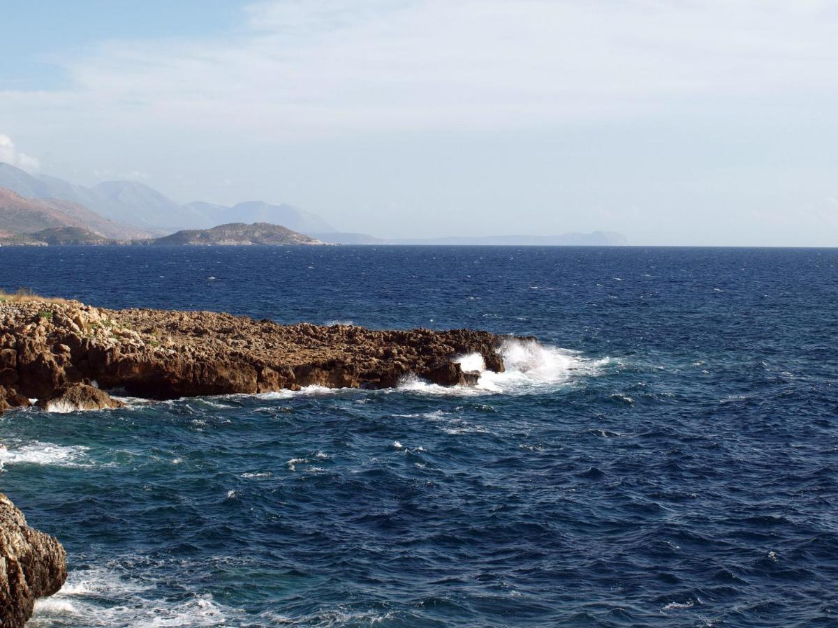
MULTIPOLYGON (((292 207, 261 201, 231 207, 195 201, 181 205, 136 181, 106 181, 85 188, 45 174, 29 174, 0 162, 0 238, 44 229, 90 229, 106 239, 149 239, 174 231, 210 229, 225 224, 282 225, 327 244, 339 245, 626 245, 621 234, 554 236, 499 235, 425 239, 384 239, 370 234, 335 231, 326 220, 292 207)), ((63 234, 60 237, 74 237, 63 234)), ((51 238, 58 238, 55 234, 51 238)), ((60 239, 60 238, 59 238, 60 239)), ((91 244, 93 244, 91 242, 91 244)), ((101 244, 101 243, 98 243, 101 244)))

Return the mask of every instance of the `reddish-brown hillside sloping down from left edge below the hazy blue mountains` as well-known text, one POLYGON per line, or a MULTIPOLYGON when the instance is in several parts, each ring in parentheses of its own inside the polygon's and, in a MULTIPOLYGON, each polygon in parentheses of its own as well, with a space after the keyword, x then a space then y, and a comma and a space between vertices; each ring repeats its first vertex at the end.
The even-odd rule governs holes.
POLYGON ((52 198, 23 198, 0 188, 0 232, 33 234, 54 227, 80 227, 117 239, 147 236, 142 229, 104 219, 75 203, 52 198))

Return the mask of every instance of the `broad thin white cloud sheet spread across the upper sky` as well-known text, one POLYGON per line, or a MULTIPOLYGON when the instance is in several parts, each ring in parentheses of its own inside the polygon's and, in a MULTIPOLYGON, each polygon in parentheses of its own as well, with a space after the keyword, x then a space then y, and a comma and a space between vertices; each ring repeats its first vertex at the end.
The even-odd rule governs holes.
POLYGON ((838 95, 828 0, 283 0, 233 37, 110 42, 65 92, 101 124, 289 134, 515 129, 838 95), (150 122, 153 120, 154 122, 150 122))

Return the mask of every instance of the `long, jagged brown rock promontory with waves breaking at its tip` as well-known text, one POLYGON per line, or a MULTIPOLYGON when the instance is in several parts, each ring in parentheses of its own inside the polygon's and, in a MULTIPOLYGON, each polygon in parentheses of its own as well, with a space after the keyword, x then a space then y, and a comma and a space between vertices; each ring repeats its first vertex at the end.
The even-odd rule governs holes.
POLYGON ((456 358, 479 353, 487 368, 501 371, 501 342, 468 329, 278 325, 207 311, 5 302, 0 303, 0 395, 12 406, 32 397, 54 399, 68 394, 70 384, 93 382, 154 399, 311 384, 380 389, 408 375, 446 386, 471 384, 478 374, 464 373, 456 358))

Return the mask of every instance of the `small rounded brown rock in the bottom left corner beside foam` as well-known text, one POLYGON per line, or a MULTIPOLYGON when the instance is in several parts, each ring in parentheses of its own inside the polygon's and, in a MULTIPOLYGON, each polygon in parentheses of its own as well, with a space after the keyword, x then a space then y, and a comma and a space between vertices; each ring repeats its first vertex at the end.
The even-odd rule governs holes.
POLYGON ((58 539, 29 528, 23 512, 0 493, 0 625, 22 626, 35 600, 54 594, 66 579, 66 553, 58 539))

